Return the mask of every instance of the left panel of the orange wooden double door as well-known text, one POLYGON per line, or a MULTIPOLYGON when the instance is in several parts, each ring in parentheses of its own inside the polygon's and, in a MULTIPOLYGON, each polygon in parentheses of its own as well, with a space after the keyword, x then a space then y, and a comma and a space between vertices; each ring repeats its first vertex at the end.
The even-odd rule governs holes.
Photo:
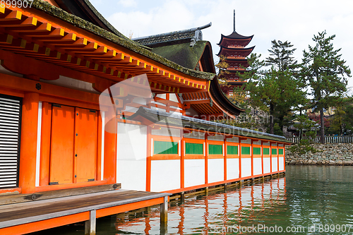
POLYGON ((73 107, 52 105, 49 184, 73 183, 73 107))

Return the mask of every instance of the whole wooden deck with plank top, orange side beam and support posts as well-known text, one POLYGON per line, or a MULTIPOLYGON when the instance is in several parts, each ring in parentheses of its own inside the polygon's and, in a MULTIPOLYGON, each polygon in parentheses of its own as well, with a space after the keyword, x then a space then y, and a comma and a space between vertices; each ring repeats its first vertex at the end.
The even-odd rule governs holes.
POLYGON ((86 221, 85 234, 95 234, 95 218, 158 204, 164 223, 169 195, 119 189, 1 205, 0 234, 25 234, 82 221, 86 221))

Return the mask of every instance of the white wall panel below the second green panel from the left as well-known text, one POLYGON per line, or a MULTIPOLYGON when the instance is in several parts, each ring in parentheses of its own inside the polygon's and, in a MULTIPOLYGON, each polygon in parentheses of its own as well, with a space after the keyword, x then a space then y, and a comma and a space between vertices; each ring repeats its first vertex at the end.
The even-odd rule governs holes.
POLYGON ((205 159, 185 159, 184 186, 205 184, 205 159))

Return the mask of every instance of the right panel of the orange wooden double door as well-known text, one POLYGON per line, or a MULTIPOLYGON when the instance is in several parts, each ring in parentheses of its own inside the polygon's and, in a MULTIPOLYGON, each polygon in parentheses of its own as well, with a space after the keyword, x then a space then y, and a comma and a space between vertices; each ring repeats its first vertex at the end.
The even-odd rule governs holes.
POLYGON ((76 182, 95 181, 97 174, 97 112, 75 109, 76 182))

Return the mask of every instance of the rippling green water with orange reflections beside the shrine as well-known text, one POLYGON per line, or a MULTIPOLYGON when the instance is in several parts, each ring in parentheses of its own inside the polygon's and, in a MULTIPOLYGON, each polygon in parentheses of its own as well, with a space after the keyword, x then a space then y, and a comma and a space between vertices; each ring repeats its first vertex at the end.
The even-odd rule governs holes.
MULTIPOLYGON (((172 200, 167 234, 353 234, 352 195, 353 167, 290 166, 285 178, 172 200)), ((160 234, 159 208, 98 219, 97 234, 160 234)))

